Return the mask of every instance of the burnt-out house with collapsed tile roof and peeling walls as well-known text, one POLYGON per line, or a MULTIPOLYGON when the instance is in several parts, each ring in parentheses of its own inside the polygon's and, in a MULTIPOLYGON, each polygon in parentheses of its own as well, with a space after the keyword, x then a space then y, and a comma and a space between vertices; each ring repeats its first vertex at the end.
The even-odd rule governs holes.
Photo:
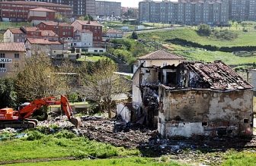
POLYGON ((133 75, 133 117, 163 137, 252 135, 253 89, 222 61, 141 64, 133 75))

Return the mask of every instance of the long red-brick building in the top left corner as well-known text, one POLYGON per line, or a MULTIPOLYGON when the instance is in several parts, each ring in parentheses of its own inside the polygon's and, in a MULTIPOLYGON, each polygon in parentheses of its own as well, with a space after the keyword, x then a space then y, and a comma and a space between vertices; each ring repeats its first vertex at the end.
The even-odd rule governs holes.
POLYGON ((11 22, 25 22, 28 19, 30 9, 46 8, 62 14, 66 17, 72 16, 72 6, 57 5, 45 2, 0 2, 1 20, 11 22))

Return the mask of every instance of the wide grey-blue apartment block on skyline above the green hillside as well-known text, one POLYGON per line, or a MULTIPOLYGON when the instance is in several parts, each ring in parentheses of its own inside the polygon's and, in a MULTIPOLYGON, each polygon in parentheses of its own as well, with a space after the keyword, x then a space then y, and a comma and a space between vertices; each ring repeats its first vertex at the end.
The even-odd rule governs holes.
MULTIPOLYGON (((224 0, 223 0, 224 1, 224 0)), ((221 1, 139 2, 139 20, 153 23, 227 24, 229 5, 221 1)))

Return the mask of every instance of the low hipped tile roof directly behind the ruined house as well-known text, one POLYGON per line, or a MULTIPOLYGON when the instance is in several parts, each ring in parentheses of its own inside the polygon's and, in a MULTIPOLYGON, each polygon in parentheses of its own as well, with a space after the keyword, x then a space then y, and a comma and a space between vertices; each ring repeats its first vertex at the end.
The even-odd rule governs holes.
POLYGON ((168 60, 168 59, 186 59, 186 58, 184 58, 180 55, 175 55, 170 52, 166 52, 164 50, 157 50, 155 52, 149 53, 148 55, 143 55, 137 59, 139 59, 139 60, 142 60, 142 59, 155 59, 155 60, 165 59, 165 60, 168 60))

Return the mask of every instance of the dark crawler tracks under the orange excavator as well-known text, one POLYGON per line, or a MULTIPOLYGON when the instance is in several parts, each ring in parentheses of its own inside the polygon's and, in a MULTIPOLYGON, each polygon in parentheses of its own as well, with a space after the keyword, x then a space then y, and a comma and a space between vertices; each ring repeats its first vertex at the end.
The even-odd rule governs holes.
POLYGON ((37 120, 30 121, 1 121, 0 122, 0 128, 4 129, 6 127, 11 127, 15 129, 20 129, 20 128, 35 128, 37 127, 37 120))

